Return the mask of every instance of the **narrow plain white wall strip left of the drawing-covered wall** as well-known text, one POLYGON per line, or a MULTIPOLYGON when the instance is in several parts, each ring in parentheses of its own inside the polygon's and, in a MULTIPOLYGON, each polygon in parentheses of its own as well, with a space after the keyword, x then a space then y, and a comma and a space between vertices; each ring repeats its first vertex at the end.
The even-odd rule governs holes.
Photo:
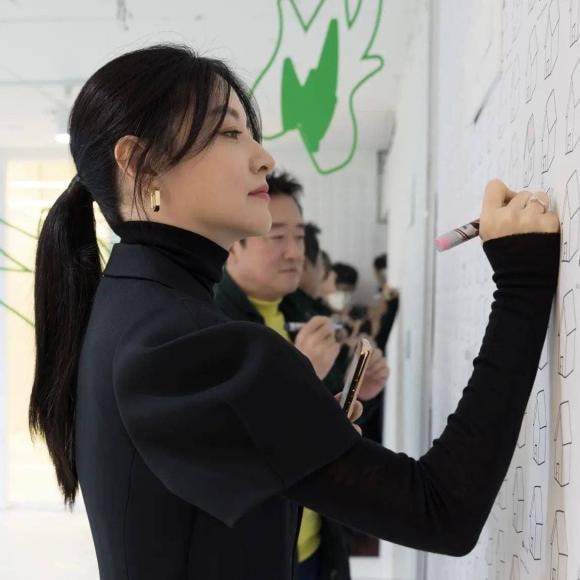
MULTIPOLYGON (((401 307, 388 344, 385 444, 419 457, 426 447, 429 352, 430 252, 428 196, 429 26, 428 2, 416 2, 396 109, 396 132, 386 166, 384 194, 389 208, 389 281, 401 292, 401 307)), ((388 578, 420 573, 414 550, 383 546, 388 578)))

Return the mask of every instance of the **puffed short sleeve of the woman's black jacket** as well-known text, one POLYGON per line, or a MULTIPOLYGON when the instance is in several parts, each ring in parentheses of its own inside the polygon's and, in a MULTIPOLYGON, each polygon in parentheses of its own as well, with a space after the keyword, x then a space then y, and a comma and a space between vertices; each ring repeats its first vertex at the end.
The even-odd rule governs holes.
POLYGON ((180 321, 167 317, 126 333, 113 386, 129 438, 175 495, 231 526, 359 439, 310 361, 276 332, 228 322, 169 338, 180 321))

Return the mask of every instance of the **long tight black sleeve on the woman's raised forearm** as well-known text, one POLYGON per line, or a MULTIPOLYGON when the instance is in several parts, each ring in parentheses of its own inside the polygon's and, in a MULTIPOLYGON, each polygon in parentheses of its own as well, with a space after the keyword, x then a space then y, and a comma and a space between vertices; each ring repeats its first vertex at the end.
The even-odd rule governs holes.
POLYGON ((419 460, 361 439, 287 496, 385 540, 471 551, 509 467, 557 282, 559 234, 492 240, 497 291, 473 374, 443 433, 419 460))

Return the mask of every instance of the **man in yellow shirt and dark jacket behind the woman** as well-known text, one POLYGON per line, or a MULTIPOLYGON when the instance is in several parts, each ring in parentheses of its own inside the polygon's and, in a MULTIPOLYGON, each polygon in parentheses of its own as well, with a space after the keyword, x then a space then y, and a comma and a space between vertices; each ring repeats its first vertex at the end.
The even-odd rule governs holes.
MULTIPOLYGON (((306 226, 298 200, 302 186, 286 172, 268 175, 267 182, 272 228, 264 236, 240 240, 232 246, 222 280, 215 288, 215 300, 232 320, 265 324, 288 341, 292 336, 285 329, 285 323, 306 321, 294 335, 294 344, 311 360, 325 386, 335 394, 342 389, 345 365, 340 360, 338 365, 335 364, 340 345, 330 319, 318 314, 313 301, 303 291, 300 291, 300 300, 302 304, 308 303, 306 310, 292 300, 285 301, 285 297, 295 293, 303 280, 306 261, 310 262, 309 282, 315 292, 321 277, 317 270, 318 256, 314 255, 316 252, 310 239, 308 251, 310 258, 314 258, 313 262, 305 256, 306 226)), ((359 398, 376 397, 387 376, 384 359, 376 351, 359 398)), ((300 580, 348 580, 348 554, 348 540, 342 526, 305 509, 298 535, 300 580)))

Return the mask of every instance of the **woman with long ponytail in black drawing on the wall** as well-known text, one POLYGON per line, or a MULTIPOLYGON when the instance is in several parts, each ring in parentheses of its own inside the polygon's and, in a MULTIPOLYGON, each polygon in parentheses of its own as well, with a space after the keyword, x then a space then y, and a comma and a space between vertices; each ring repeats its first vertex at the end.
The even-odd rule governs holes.
POLYGON ((87 81, 70 135, 78 177, 38 245, 30 422, 68 504, 80 482, 101 578, 288 580, 301 506, 469 552, 513 453, 556 285, 559 223, 544 194, 486 190, 489 326, 456 412, 414 460, 360 437, 275 332, 212 302, 228 248, 271 226, 274 164, 223 63, 171 46, 125 54, 87 81), (121 238, 103 273, 93 200, 121 238))

